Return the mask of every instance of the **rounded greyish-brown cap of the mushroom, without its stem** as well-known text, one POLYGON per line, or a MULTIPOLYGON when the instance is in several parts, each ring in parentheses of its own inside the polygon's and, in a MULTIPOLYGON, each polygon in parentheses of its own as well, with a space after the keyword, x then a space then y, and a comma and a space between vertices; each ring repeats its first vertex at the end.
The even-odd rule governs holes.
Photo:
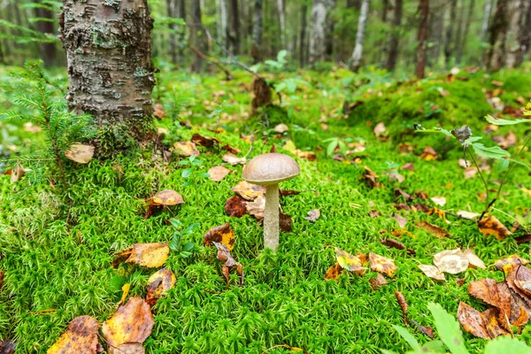
POLYGON ((296 160, 288 155, 270 152, 252 158, 243 167, 242 179, 250 183, 267 186, 291 180, 300 172, 296 160))

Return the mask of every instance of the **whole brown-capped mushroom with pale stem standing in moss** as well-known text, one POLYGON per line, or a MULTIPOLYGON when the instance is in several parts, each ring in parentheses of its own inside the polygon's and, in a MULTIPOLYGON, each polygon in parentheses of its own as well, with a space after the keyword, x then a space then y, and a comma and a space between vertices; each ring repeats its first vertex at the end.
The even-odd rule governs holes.
POLYGON ((279 247, 279 183, 299 173, 299 165, 293 158, 277 152, 258 155, 243 167, 244 181, 266 186, 264 246, 273 251, 279 247))

